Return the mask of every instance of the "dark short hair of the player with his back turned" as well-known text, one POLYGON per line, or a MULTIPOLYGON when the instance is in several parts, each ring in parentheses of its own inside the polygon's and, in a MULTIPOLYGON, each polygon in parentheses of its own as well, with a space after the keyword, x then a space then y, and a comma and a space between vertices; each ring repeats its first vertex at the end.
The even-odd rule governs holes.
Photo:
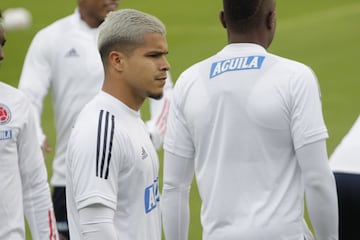
POLYGON ((232 31, 247 32, 256 27, 267 0, 223 0, 226 23, 232 31))

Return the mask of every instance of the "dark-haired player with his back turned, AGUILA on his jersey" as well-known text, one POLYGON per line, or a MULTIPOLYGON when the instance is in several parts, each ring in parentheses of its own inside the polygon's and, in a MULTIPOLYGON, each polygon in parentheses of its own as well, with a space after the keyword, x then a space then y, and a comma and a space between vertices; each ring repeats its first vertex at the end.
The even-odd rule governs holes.
POLYGON ((308 66, 266 50, 275 5, 223 0, 228 44, 175 84, 164 142, 166 239, 188 237, 194 174, 204 240, 311 239, 304 196, 316 239, 338 239, 319 86, 308 66))

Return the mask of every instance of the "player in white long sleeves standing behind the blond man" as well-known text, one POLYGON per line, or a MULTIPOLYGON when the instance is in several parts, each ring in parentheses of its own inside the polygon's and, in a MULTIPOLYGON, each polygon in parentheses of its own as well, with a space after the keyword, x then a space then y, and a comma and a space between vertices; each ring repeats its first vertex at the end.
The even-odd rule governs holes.
MULTIPOLYGON (((65 153, 70 130, 80 109, 101 89, 104 70, 97 49, 98 26, 106 14, 118 8, 118 0, 78 0, 75 12, 45 27, 34 37, 27 52, 19 89, 36 109, 40 128, 43 99, 51 90, 54 109, 56 147, 51 184, 58 229, 68 236, 65 205, 65 153)), ((172 89, 168 78, 161 100, 150 100, 150 121, 147 123, 154 145, 162 145, 172 89)), ((41 134, 43 149, 50 150, 41 134)))

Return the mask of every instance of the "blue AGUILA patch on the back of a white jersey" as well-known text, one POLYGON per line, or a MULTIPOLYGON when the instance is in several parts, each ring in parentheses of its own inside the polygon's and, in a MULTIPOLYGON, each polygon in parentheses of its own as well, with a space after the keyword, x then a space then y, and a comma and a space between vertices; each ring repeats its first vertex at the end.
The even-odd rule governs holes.
POLYGON ((237 57, 214 62, 210 69, 210 78, 230 71, 260 69, 265 56, 237 57))

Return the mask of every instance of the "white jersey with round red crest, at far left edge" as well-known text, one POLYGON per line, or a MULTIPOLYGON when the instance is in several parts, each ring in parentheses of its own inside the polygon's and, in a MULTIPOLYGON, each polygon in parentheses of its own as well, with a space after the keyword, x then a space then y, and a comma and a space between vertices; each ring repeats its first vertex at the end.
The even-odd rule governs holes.
POLYGON ((0 82, 0 239, 57 239, 34 115, 26 97, 0 82))

